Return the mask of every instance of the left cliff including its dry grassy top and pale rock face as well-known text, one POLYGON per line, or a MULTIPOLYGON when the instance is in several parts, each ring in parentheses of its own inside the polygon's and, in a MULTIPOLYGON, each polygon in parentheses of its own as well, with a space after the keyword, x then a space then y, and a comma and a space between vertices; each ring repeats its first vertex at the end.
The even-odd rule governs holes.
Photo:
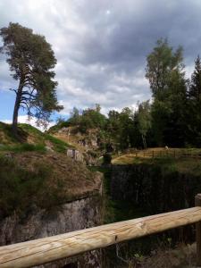
MULTIPOLYGON (((92 174, 67 156, 5 155, 0 159, 0 179, 6 192, 0 196, 0 246, 102 224, 102 174, 92 174), (43 184, 36 184, 38 180, 43 184)), ((101 255, 97 250, 40 267, 98 268, 101 255)))

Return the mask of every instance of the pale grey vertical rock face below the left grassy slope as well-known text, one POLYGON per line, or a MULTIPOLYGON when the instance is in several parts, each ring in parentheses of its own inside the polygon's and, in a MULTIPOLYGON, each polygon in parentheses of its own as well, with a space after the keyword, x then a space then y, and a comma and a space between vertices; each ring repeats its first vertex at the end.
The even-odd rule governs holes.
MULTIPOLYGON (((102 223, 102 188, 100 195, 85 197, 51 210, 33 207, 22 218, 13 214, 0 222, 0 245, 9 245, 30 239, 40 239, 80 230, 102 223)), ((100 251, 92 251, 72 259, 64 259, 38 267, 101 267, 100 251)))

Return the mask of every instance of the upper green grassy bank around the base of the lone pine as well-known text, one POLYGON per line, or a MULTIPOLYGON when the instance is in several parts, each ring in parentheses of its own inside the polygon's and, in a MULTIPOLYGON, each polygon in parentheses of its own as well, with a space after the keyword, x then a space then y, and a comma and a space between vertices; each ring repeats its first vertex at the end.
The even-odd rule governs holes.
POLYGON ((0 122, 0 150, 1 151, 46 151, 46 146, 55 152, 65 153, 68 143, 55 138, 50 134, 43 133, 29 124, 19 124, 21 142, 13 137, 11 125, 0 122))

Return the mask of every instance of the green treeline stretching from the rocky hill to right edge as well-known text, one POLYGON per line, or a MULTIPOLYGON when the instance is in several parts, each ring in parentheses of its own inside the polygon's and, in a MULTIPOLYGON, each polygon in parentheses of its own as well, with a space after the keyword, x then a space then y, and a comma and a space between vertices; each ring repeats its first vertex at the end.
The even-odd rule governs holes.
POLYGON ((173 49, 166 39, 157 41, 147 56, 146 78, 152 100, 110 111, 106 117, 100 105, 80 113, 77 108, 61 126, 79 130, 98 128, 100 136, 121 149, 128 147, 201 147, 201 61, 195 61, 191 79, 186 79, 183 49, 173 49))

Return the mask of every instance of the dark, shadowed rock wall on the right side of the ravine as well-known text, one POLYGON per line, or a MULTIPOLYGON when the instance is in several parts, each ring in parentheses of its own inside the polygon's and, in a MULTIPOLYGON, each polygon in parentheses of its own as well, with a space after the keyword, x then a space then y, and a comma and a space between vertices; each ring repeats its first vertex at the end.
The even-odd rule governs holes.
POLYGON ((112 166, 113 199, 129 200, 149 214, 194 206, 200 188, 201 178, 197 174, 165 172, 160 165, 146 163, 112 166))

